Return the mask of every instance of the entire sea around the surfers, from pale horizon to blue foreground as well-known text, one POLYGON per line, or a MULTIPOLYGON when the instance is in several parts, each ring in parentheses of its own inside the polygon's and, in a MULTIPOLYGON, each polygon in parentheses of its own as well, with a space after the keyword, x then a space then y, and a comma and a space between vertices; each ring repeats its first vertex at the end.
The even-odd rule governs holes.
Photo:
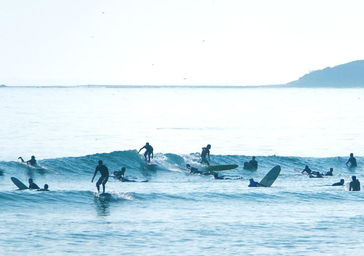
POLYGON ((362 253, 364 89, 0 88, 0 255, 351 255, 362 253), (137 153, 154 147, 147 166, 137 153), (199 170, 201 147, 219 172, 199 170), (337 160, 354 153, 358 167, 337 160), (35 155, 38 168, 21 164, 35 155), (242 169, 255 155, 256 171, 242 169), (96 194, 98 160, 112 173, 96 194), (271 188, 248 188, 274 166, 271 188), (305 165, 332 177, 293 172, 305 165), (50 192, 19 191, 10 177, 50 192))

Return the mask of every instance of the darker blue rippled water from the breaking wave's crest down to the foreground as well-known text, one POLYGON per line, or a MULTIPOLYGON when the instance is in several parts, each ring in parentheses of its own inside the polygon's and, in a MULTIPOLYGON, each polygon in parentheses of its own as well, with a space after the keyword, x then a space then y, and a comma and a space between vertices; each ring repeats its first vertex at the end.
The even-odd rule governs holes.
POLYGON ((96 255, 118 241, 123 246, 107 246, 108 255, 280 255, 282 247, 283 254, 332 255, 350 244, 350 254, 360 254, 363 193, 330 185, 352 175, 361 179, 362 167, 337 158, 257 156, 258 169, 244 170, 250 158, 211 155, 211 164, 238 164, 219 175, 239 180, 187 173, 186 164, 203 170, 199 153, 157 153, 157 166, 146 165, 135 150, 43 159, 37 168, 1 161, 0 247, 4 255, 96 255), (125 177, 137 182, 110 176, 111 196, 99 197, 91 178, 100 159, 110 173, 126 167, 125 177), (271 188, 248 188, 249 178, 260 181, 276 165, 282 170, 271 188), (332 167, 334 176, 293 171, 305 165, 321 172, 332 167), (47 183, 51 191, 16 190, 12 176, 47 183), (348 230, 356 236, 348 237, 348 230), (313 246, 317 239, 330 246, 313 246))

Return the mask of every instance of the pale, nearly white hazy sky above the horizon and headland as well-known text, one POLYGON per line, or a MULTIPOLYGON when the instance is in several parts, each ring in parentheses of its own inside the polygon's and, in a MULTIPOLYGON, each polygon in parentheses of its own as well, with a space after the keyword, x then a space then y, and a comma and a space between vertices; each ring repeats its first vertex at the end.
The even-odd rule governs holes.
POLYGON ((0 84, 263 85, 364 59, 364 1, 0 0, 0 84))

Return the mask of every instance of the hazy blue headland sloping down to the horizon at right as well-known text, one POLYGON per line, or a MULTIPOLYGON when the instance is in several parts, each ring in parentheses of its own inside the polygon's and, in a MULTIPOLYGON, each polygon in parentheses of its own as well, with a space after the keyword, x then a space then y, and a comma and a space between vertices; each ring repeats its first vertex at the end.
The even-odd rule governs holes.
POLYGON ((312 71, 298 80, 286 84, 263 85, 262 87, 364 87, 364 60, 312 71))

